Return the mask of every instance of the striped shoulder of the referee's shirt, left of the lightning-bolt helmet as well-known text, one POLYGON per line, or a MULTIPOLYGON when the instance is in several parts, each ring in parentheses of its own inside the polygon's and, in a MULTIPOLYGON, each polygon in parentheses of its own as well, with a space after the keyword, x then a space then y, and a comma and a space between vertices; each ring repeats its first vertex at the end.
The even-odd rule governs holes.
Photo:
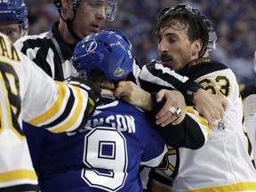
POLYGON ((76 44, 66 43, 58 31, 59 21, 50 31, 35 36, 23 36, 15 42, 15 47, 43 68, 53 79, 62 81, 76 73, 71 57, 76 44))

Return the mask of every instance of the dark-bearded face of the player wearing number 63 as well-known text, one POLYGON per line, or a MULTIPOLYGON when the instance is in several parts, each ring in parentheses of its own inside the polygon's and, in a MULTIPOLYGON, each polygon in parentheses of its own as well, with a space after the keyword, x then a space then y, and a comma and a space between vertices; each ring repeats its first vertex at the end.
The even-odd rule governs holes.
POLYGON ((186 28, 162 28, 157 36, 158 52, 164 67, 179 71, 190 60, 198 58, 199 42, 191 43, 186 28))

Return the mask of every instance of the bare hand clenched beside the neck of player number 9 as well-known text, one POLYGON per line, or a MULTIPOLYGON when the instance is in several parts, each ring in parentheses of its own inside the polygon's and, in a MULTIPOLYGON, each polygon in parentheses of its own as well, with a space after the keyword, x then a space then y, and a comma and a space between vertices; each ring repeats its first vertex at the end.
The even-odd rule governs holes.
POLYGON ((114 95, 116 98, 120 98, 144 110, 151 110, 154 105, 154 102, 151 100, 151 94, 141 89, 140 86, 132 81, 120 81, 116 86, 114 95))

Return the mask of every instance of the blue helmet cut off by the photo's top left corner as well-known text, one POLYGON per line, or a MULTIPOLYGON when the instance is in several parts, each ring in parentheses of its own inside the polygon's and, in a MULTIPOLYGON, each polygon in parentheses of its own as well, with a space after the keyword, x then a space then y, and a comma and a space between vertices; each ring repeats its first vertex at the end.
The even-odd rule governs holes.
POLYGON ((20 21, 28 28, 28 7, 23 0, 0 1, 0 21, 20 21))

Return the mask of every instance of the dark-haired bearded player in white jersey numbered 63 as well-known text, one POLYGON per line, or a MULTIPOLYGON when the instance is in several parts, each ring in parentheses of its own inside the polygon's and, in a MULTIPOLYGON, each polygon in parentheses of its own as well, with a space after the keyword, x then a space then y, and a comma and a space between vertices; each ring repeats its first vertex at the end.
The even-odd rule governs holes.
POLYGON ((186 4, 167 7, 157 19, 156 37, 161 61, 148 68, 156 76, 144 78, 148 89, 152 83, 168 85, 166 73, 171 68, 225 96, 229 107, 202 148, 169 148, 170 155, 154 176, 155 191, 255 191, 256 172, 236 76, 220 62, 204 58, 214 38, 211 21, 186 4))

